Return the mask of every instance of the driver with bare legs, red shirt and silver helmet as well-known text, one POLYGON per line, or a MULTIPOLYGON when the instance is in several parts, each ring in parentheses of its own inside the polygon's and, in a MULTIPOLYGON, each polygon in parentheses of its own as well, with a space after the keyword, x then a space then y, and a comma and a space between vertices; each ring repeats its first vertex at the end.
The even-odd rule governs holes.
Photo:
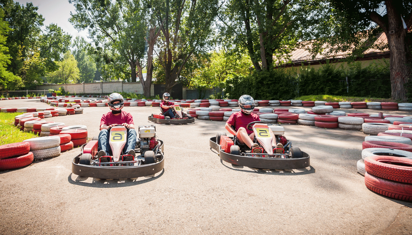
MULTIPOLYGON (((252 152, 255 154, 260 154, 261 149, 259 149, 259 144, 253 143, 255 133, 253 130, 246 129, 246 126, 253 121, 260 121, 257 114, 252 113, 255 108, 255 100, 250 95, 242 95, 238 101, 240 112, 233 113, 226 122, 226 130, 232 135, 236 135, 237 144, 247 145, 252 152), (232 128, 234 126, 234 129, 232 128)), ((272 130, 269 128, 270 135, 272 136, 272 146, 283 149, 283 144, 278 143, 276 145, 276 137, 272 130)), ((282 154, 283 150, 277 149, 278 154, 282 154), (279 152, 278 152, 279 151, 279 152)))

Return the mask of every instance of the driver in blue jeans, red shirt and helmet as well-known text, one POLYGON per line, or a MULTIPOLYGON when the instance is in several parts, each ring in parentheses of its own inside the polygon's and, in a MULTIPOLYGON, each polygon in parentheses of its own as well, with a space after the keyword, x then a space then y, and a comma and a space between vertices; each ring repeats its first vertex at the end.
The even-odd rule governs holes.
POLYGON ((124 145, 124 153, 136 156, 134 151, 136 146, 136 130, 134 128, 133 117, 130 113, 122 111, 123 108, 123 96, 119 93, 112 93, 108 97, 108 107, 111 112, 103 114, 100 121, 100 134, 98 137, 98 157, 110 156, 109 146, 109 130, 113 126, 122 125, 127 130, 127 141, 124 145))

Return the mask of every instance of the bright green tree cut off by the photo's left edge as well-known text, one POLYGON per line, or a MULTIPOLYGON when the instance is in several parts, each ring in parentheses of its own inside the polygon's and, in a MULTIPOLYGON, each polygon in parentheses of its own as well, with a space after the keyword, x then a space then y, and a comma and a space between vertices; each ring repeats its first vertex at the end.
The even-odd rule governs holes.
POLYGON ((0 9, 0 89, 5 90, 11 81, 21 82, 21 78, 7 71, 7 65, 10 63, 10 56, 7 54, 9 49, 4 46, 6 42, 6 34, 11 29, 7 22, 3 20, 4 11, 0 9))

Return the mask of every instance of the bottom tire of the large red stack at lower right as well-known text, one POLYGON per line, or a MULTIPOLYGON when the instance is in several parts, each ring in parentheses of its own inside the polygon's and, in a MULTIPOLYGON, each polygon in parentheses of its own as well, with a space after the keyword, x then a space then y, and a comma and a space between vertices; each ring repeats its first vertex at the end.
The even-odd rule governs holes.
POLYGON ((412 184, 382 179, 365 172, 365 185, 369 190, 388 198, 412 202, 412 184))

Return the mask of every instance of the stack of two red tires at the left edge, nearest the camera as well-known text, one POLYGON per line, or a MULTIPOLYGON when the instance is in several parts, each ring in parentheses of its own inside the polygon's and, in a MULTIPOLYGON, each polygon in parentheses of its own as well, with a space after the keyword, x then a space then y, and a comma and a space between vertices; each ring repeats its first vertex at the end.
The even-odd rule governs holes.
POLYGON ((18 142, 0 146, 0 170, 22 168, 33 163, 33 153, 30 144, 18 142))

